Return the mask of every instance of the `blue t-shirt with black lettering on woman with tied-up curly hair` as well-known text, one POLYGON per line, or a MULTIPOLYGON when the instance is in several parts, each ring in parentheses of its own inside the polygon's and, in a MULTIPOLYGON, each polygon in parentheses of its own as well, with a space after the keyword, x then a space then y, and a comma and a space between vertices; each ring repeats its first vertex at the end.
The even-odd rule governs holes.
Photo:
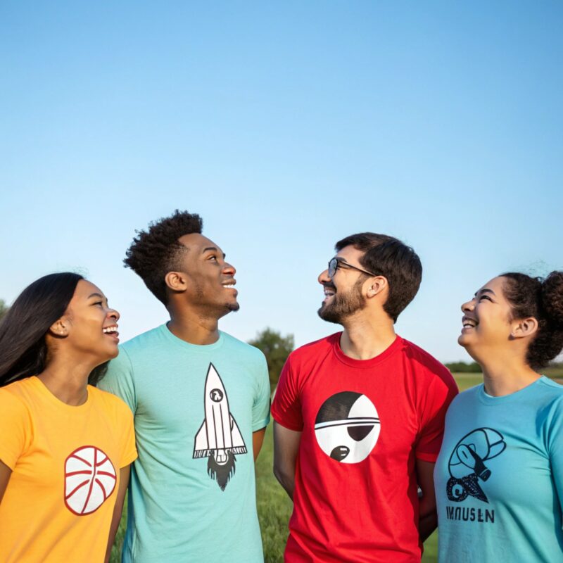
POLYGON ((439 562, 563 562, 563 386, 460 393, 434 484, 439 562))

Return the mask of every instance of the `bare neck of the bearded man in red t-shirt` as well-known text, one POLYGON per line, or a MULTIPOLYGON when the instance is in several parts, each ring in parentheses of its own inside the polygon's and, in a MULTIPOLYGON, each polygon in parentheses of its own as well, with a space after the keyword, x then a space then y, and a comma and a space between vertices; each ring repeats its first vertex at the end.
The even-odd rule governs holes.
POLYGON ((346 319, 340 339, 340 347, 349 358, 370 360, 384 352, 397 335, 393 321, 385 318, 369 318, 366 315, 353 315, 346 319))

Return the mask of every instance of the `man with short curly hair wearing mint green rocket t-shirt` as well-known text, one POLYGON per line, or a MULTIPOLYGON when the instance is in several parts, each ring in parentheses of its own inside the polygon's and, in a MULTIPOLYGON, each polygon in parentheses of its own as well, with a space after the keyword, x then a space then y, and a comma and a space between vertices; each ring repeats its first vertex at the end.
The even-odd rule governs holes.
POLYGON ((126 342, 99 386, 134 413, 139 458, 122 562, 262 562, 254 460, 270 419, 264 355, 220 331, 234 267, 176 211, 139 232, 125 264, 170 321, 126 342))

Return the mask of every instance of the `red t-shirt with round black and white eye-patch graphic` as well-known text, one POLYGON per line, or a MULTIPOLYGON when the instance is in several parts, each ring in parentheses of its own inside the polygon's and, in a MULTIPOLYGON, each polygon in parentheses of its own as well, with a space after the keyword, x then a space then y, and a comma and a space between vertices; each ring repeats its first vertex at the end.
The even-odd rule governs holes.
POLYGON ((301 431, 286 562, 419 562, 415 458, 435 462, 457 393, 440 362, 397 336, 371 360, 341 333, 298 348, 272 416, 301 431))

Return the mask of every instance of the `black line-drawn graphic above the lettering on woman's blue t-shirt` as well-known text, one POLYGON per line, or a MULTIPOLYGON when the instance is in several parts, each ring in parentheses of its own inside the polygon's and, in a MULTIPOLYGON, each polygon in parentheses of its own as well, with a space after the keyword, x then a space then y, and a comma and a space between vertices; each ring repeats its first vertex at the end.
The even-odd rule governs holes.
POLYGON ((488 502, 479 481, 491 476, 485 462, 500 455, 506 448, 505 438, 492 428, 478 428, 466 434, 453 448, 448 469, 450 479, 446 494, 450 500, 461 502, 468 495, 488 502))

